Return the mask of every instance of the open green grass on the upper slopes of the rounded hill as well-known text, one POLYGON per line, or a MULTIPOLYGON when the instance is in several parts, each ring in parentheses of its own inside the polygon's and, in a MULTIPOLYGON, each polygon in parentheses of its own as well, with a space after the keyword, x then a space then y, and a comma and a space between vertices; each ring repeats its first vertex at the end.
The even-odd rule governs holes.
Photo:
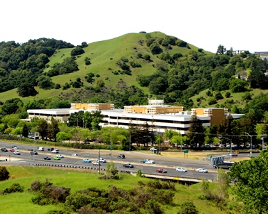
MULTIPOLYGON (((150 33, 152 38, 165 38, 166 35, 161 32, 152 32, 150 33)), ((52 81, 54 83, 58 83, 60 85, 64 85, 65 83, 70 83, 70 81, 76 81, 76 79, 79 77, 81 81, 83 81, 85 86, 90 86, 90 83, 86 82, 85 76, 89 72, 92 72, 93 74, 99 74, 100 77, 95 77, 95 80, 102 79, 104 81, 105 86, 114 88, 116 83, 118 81, 122 80, 125 83, 127 83, 127 86, 130 85, 136 85, 139 88, 139 84, 136 82, 136 76, 139 74, 143 75, 151 75, 156 71, 155 65, 159 63, 161 60, 157 58, 157 56, 153 55, 149 49, 149 47, 146 46, 146 34, 145 33, 127 33, 125 35, 121 35, 118 38, 113 38, 111 40, 104 40, 100 42, 93 42, 88 44, 88 47, 84 48, 85 53, 81 54, 81 56, 77 56, 77 64, 79 66, 79 71, 70 73, 70 74, 64 74, 59 76, 52 77, 52 81), (141 53, 143 56, 145 54, 150 55, 151 62, 148 62, 142 58, 138 58, 137 54, 141 53), (126 57, 129 61, 134 61, 136 63, 141 64, 142 67, 136 67, 132 68, 132 75, 126 75, 126 74, 113 74, 112 72, 115 72, 117 70, 120 70, 120 67, 116 65, 118 60, 122 57, 126 57), (84 59, 88 57, 90 58, 91 65, 85 65, 84 59)), ((168 51, 171 56, 173 56, 174 53, 182 53, 186 54, 187 52, 194 50, 198 51, 198 47, 195 47, 192 44, 189 44, 189 47, 191 49, 187 49, 186 47, 178 47, 173 46, 173 49, 171 50, 164 50, 164 52, 168 51)), ((70 57, 72 49, 60 49, 57 50, 57 52, 49 58, 49 67, 52 67, 55 63, 62 63, 64 58, 70 57)), ((203 51, 204 53, 207 53, 208 55, 213 55, 214 53, 210 53, 208 51, 203 51)), ((45 69, 45 72, 47 72, 50 68, 45 69)), ((93 86, 95 83, 93 83, 93 86)), ((148 88, 141 88, 145 94, 148 94, 148 88)), ((33 99, 44 99, 49 97, 58 97, 62 92, 71 92, 79 91, 79 89, 70 88, 69 90, 42 90, 38 87, 36 87, 36 90, 38 91, 38 95, 36 97, 19 97, 17 95, 17 90, 10 90, 7 92, 0 93, 0 101, 6 101, 7 99, 11 98, 17 98, 19 97, 22 99, 22 101, 28 101, 33 99)))

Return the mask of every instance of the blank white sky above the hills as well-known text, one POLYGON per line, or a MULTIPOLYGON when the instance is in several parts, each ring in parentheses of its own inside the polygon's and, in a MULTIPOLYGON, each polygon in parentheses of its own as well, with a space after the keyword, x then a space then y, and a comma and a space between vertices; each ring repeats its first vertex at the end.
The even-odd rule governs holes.
POLYGON ((267 0, 2 0, 0 42, 74 45, 160 31, 216 52, 268 51, 267 0))

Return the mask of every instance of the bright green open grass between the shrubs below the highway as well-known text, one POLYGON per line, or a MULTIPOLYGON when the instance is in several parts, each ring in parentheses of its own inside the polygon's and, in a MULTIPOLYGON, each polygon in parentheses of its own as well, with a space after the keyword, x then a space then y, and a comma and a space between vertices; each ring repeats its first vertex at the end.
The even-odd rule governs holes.
MULTIPOLYGON (((88 172, 85 170, 58 170, 49 167, 31 167, 31 166, 7 166, 11 178, 8 181, 0 182, 0 190, 9 187, 13 183, 19 183, 24 186, 22 193, 12 193, 9 195, 0 195, 1 211, 0 213, 47 213, 48 211, 60 209, 61 205, 38 206, 31 202, 33 196, 27 191, 33 181, 45 181, 46 178, 55 186, 65 186, 71 188, 71 192, 84 190, 86 188, 109 189, 110 186, 130 190, 138 185, 138 181, 148 182, 149 179, 132 176, 130 174, 121 174, 121 179, 116 180, 100 180, 99 174, 88 172)), ((215 183, 210 183, 210 188, 214 188, 215 183)), ((199 213, 226 213, 216 207, 212 202, 200 199, 202 192, 200 184, 192 186, 184 186, 177 183, 176 193, 174 197, 174 206, 163 206, 164 213, 175 214, 180 208, 180 204, 185 201, 194 202, 199 213)), ((232 212, 234 213, 234 212, 232 212)))

